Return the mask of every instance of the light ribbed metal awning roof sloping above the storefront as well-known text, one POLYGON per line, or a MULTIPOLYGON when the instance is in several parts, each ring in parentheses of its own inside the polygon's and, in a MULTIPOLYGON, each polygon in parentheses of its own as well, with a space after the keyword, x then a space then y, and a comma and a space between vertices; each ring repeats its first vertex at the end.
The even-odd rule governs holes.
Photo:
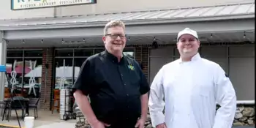
POLYGON ((124 20, 127 24, 147 24, 151 23, 150 21, 179 23, 182 21, 230 20, 234 18, 255 18, 255 1, 243 4, 224 4, 218 6, 176 8, 169 10, 118 12, 95 15, 65 16, 58 18, 0 20, 0 30, 28 29, 28 27, 33 29, 35 26, 47 26, 42 29, 47 29, 48 27, 50 29, 53 27, 58 28, 58 26, 67 27, 67 23, 69 25, 83 24, 86 26, 102 26, 109 20, 124 20))

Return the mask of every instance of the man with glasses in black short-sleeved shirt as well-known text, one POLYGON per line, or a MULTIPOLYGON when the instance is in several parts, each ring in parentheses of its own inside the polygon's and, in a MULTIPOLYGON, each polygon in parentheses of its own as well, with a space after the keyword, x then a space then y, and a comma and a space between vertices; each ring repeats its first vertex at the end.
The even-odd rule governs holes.
POLYGON ((106 24, 106 50, 86 59, 73 86, 92 128, 143 128, 146 121, 150 88, 138 62, 123 54, 124 31, 121 21, 106 24))

